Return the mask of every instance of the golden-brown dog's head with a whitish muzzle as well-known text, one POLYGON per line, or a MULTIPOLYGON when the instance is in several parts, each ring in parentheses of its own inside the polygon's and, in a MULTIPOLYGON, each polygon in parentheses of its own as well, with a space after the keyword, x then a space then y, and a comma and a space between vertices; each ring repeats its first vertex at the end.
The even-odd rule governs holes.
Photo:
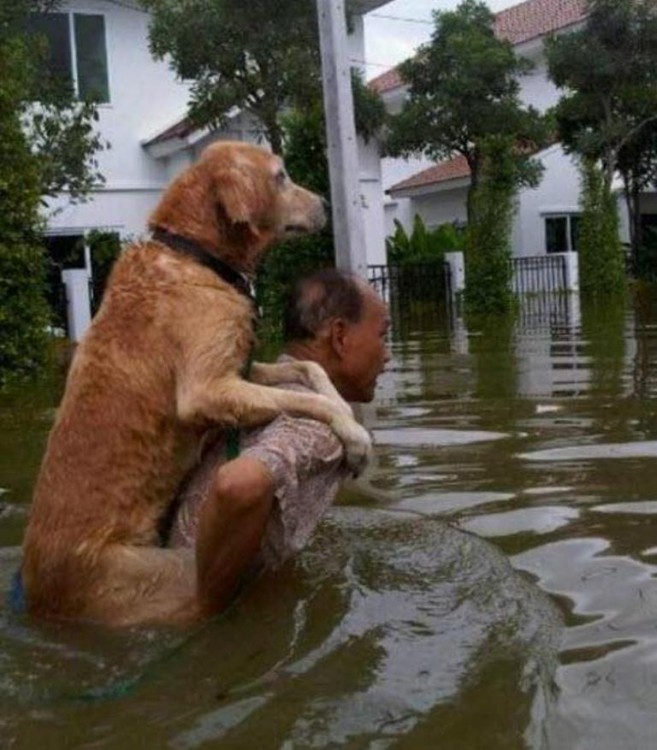
POLYGON ((272 242, 319 231, 323 201, 290 180, 282 160, 241 142, 218 142, 169 186, 149 226, 201 244, 252 270, 272 242))

